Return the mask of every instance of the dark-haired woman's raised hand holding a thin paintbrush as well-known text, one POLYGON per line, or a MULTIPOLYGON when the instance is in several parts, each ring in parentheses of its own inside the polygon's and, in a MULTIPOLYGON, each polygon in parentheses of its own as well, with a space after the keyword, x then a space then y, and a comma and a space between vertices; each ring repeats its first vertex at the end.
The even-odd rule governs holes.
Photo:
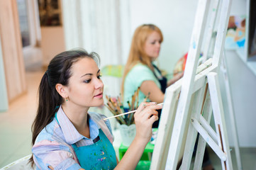
POLYGON ((158 120, 157 111, 162 106, 157 105, 155 102, 140 103, 137 111, 134 114, 136 125, 136 137, 140 140, 149 142, 152 136, 152 124, 158 120))

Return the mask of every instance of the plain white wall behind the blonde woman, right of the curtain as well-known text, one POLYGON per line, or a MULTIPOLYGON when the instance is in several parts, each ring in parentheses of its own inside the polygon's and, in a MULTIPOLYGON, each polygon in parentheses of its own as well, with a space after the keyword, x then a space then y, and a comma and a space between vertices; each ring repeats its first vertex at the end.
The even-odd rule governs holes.
POLYGON ((132 0, 131 33, 143 23, 154 23, 163 33, 159 64, 172 73, 174 64, 189 50, 191 30, 196 13, 196 0, 132 0))

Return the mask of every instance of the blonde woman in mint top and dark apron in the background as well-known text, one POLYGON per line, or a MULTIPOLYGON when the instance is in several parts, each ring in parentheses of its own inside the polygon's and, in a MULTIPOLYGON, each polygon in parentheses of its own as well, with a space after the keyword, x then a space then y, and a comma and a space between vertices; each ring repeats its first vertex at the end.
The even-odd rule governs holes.
MULTIPOLYGON (((126 108, 128 108, 127 101, 130 101, 138 87, 140 87, 139 104, 147 98, 146 96, 148 96, 147 101, 162 103, 167 86, 183 76, 183 74, 178 74, 177 77, 167 82, 160 69, 152 63, 159 56, 162 41, 160 28, 153 24, 143 24, 135 30, 121 85, 123 104, 126 108)), ((160 116, 160 111, 158 113, 160 116)), ((153 128, 157 127, 158 121, 153 125, 153 128)))

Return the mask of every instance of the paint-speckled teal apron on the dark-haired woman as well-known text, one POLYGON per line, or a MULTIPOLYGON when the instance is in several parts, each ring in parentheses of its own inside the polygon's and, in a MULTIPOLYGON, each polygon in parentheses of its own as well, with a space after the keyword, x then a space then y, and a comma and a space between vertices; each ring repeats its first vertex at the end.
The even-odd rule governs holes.
MULTIPOLYGON (((55 118, 57 120, 56 114, 55 118)), ((101 129, 94 144, 82 147, 72 144, 72 147, 83 169, 114 169, 117 165, 115 149, 101 129)))

